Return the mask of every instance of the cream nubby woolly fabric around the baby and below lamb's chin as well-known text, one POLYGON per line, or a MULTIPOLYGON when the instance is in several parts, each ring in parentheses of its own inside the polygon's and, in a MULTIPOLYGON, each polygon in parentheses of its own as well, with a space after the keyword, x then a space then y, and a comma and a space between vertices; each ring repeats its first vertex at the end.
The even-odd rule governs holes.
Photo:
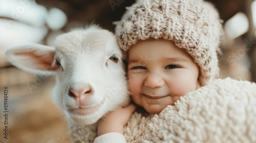
MULTIPOLYGON (((71 127, 74 142, 93 142, 96 125, 71 127)), ((256 84, 217 79, 159 114, 135 112, 127 142, 256 142, 256 84)))

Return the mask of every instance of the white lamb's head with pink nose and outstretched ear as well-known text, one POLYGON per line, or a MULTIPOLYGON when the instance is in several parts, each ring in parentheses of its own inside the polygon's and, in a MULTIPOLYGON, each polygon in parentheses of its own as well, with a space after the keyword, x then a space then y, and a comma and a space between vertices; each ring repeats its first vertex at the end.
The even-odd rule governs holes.
POLYGON ((58 36, 55 47, 18 45, 5 55, 31 73, 54 74, 53 101, 75 124, 93 124, 129 102, 122 53, 107 30, 76 29, 58 36))

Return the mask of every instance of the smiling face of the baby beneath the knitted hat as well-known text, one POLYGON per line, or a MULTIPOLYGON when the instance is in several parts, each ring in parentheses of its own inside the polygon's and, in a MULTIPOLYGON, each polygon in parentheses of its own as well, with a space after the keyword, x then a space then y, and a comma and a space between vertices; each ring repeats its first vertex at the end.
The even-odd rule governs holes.
POLYGON ((197 64, 171 41, 142 40, 128 54, 132 98, 149 113, 160 113, 200 87, 197 64))

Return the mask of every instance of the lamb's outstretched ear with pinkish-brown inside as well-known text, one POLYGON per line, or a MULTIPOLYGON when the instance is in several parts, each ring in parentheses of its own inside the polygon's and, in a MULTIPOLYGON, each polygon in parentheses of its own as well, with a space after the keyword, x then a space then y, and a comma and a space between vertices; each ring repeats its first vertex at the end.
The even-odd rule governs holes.
POLYGON ((57 66, 53 66, 55 48, 51 46, 29 43, 9 47, 5 50, 6 58, 16 67, 34 74, 54 74, 57 66))

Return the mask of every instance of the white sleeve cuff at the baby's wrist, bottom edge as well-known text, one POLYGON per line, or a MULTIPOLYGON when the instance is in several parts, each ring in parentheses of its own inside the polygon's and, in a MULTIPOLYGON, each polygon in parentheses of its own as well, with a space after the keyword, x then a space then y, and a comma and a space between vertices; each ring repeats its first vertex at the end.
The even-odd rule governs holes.
POLYGON ((123 134, 117 132, 106 133, 98 136, 93 141, 94 143, 124 143, 126 142, 123 134))

